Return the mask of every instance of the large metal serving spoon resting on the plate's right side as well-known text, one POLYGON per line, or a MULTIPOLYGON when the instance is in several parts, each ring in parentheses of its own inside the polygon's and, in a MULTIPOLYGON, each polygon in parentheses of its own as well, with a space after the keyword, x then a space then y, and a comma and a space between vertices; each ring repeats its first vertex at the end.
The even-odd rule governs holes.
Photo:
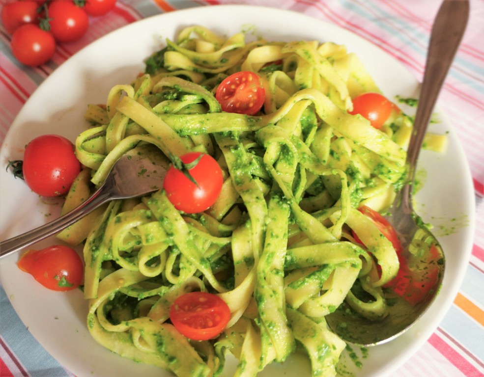
POLYGON ((414 130, 408 146, 407 179, 387 216, 397 231, 407 265, 413 267, 407 277, 414 291, 408 292, 408 296, 403 298, 390 293, 387 296, 391 302, 389 314, 381 321, 372 322, 355 315, 346 304, 326 316, 332 330, 347 342, 374 346, 398 337, 422 316, 441 286, 445 267, 444 253, 437 239, 414 212, 412 190, 417 158, 427 125, 464 34, 468 16, 468 0, 444 0, 437 13, 430 35, 414 130), (425 289, 422 289, 423 284, 426 285, 425 289))

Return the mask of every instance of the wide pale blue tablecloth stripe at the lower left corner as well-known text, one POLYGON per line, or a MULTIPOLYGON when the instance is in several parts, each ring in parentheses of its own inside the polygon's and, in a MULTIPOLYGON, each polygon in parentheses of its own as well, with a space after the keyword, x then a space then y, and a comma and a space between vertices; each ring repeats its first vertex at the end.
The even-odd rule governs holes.
MULTIPOLYGON (((32 308, 34 310, 35 308, 32 308)), ((28 332, 0 286, 0 334, 31 377, 72 377, 28 332)))

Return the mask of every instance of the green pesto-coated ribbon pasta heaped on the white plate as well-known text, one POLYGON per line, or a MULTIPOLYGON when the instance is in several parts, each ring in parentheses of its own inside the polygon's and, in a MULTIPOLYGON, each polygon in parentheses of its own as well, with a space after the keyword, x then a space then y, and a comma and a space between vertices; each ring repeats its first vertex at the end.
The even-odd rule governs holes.
POLYGON ((242 33, 193 26, 151 56, 146 73, 114 86, 106 107, 90 105, 91 127, 76 140, 85 169, 69 208, 134 148, 157 158, 201 151, 225 177, 203 213, 177 211, 160 190, 114 201, 59 234, 85 242, 94 339, 177 376, 217 376, 228 353, 239 360, 236 376, 255 376, 296 350, 308 354, 313 376, 335 376, 345 343, 325 316, 346 301, 384 318, 382 286, 399 269, 392 243, 357 208, 392 203, 412 122, 394 110, 376 130, 350 115, 351 98, 363 92, 379 89, 344 46, 248 43, 242 33), (263 81, 260 114, 223 112, 214 97, 241 70, 263 81), (171 303, 191 291, 227 302, 231 319, 218 338, 190 341, 171 325, 171 303))

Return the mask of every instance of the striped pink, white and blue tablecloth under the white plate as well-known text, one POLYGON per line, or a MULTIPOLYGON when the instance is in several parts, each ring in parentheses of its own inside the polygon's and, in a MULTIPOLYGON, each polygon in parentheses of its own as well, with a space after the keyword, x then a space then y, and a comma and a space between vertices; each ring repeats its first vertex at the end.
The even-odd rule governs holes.
MULTIPOLYGON (((4 0, 2 0, 3 2, 4 0)), ((57 47, 48 64, 30 69, 10 52, 0 28, 0 143, 29 96, 60 64, 104 34, 177 9, 247 3, 291 9, 347 28, 395 56, 420 80, 440 0, 119 0, 114 11, 90 19, 85 37, 57 47)), ((484 0, 471 16, 439 98, 464 145, 476 193, 476 235, 465 280, 449 313, 427 343, 395 376, 484 376, 484 0)), ((30 335, 0 287, 0 377, 73 376, 30 335)), ((81 376, 79 376, 81 377, 81 376)), ((84 377, 84 376, 83 376, 84 377)))

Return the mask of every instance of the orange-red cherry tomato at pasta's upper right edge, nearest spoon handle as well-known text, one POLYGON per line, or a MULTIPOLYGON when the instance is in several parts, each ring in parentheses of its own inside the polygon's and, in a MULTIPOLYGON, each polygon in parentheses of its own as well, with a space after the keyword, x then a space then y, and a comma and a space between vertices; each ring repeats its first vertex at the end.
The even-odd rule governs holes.
POLYGON ((379 93, 364 93, 353 99, 353 110, 350 114, 360 114, 368 119, 371 125, 380 129, 392 113, 392 103, 379 93))

